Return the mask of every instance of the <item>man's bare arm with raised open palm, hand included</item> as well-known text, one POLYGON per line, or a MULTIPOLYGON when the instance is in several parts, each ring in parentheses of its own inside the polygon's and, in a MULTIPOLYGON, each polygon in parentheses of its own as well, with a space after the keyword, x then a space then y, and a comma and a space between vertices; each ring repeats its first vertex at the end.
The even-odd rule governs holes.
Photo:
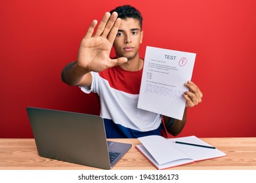
POLYGON ((106 12, 95 31, 96 24, 97 21, 93 20, 83 37, 77 61, 69 63, 62 70, 62 80, 69 85, 90 86, 91 71, 100 72, 127 61, 127 58, 110 58, 110 51, 121 24, 117 13, 106 12))

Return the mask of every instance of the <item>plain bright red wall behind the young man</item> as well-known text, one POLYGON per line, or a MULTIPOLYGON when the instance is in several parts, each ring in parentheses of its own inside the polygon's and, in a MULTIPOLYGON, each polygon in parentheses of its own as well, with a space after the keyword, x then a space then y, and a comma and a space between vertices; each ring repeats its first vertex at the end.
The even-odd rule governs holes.
POLYGON ((146 46, 197 54, 192 80, 203 103, 188 109, 179 136, 256 137, 254 0, 1 1, 0 137, 33 137, 27 106, 99 114, 95 95, 60 73, 91 21, 124 4, 144 17, 141 57, 146 46))

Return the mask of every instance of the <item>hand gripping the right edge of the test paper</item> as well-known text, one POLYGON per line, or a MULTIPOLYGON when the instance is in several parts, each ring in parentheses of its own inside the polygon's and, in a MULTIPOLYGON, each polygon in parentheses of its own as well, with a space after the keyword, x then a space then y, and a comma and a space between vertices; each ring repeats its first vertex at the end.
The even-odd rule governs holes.
POLYGON ((188 87, 188 91, 183 94, 184 99, 186 99, 186 107, 194 107, 202 102, 203 93, 201 90, 194 84, 194 82, 187 82, 185 84, 188 87))

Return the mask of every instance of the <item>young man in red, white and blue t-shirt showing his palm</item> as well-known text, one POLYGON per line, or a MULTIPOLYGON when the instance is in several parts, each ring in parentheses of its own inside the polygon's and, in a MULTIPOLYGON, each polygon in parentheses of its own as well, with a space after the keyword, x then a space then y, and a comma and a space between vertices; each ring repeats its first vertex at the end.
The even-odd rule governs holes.
MULTIPOLYGON (((140 12, 129 5, 117 7, 104 14, 95 31, 96 24, 93 20, 81 41, 77 61, 66 65, 62 80, 99 95, 107 138, 160 135, 162 120, 171 135, 178 135, 186 123, 186 109, 183 119, 176 120, 137 108, 144 63, 139 57, 143 38, 140 12), (112 46, 114 59, 110 58, 112 46)), ((193 82, 185 86, 186 107, 198 105, 202 101, 198 86, 193 82)))

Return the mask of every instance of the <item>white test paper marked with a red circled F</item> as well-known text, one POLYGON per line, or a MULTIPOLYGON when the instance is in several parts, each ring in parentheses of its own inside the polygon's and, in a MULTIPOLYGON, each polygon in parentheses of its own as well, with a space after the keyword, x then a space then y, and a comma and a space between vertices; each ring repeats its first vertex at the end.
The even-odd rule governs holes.
POLYGON ((138 108, 182 120, 196 54, 146 47, 138 108))

